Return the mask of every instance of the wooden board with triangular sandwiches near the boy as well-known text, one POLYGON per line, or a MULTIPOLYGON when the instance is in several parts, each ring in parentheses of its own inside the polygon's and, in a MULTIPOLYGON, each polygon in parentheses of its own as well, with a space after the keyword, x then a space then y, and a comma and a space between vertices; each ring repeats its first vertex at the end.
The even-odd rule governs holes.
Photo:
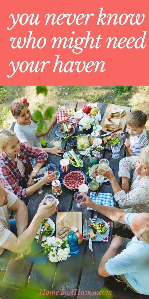
MULTIPOLYGON (((105 118, 108 119, 110 117, 111 108, 114 108, 114 109, 118 109, 118 108, 125 109, 126 113, 125 113, 124 116, 122 116, 122 117, 120 117, 120 116, 114 116, 114 118, 119 118, 120 119, 120 125, 119 125, 119 127, 122 128, 122 130, 117 131, 115 134, 122 133, 124 131, 124 128, 125 128, 126 118, 127 118, 128 114, 129 114, 129 112, 131 111, 131 107, 114 105, 114 104, 108 104, 107 109, 105 110, 105 114, 103 115, 102 121, 100 123, 100 125, 102 126, 102 131, 106 132, 106 133, 108 132, 107 129, 110 129, 110 128, 105 128, 104 127, 104 122, 105 122, 105 118)), ((114 126, 114 129, 117 129, 117 127, 114 126)), ((114 129, 111 129, 111 130, 114 130, 114 129)))

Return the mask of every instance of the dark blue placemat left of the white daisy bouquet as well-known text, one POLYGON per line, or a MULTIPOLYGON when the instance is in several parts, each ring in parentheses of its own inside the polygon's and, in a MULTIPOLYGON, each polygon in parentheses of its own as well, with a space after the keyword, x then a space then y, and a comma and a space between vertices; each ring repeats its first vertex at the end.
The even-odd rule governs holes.
POLYGON ((38 255, 35 255, 35 252, 42 249, 40 244, 37 243, 36 239, 32 242, 31 248, 32 248, 32 252, 30 254, 24 255, 24 260, 34 264, 45 266, 47 262, 47 257, 43 256, 43 252, 41 252, 38 255))

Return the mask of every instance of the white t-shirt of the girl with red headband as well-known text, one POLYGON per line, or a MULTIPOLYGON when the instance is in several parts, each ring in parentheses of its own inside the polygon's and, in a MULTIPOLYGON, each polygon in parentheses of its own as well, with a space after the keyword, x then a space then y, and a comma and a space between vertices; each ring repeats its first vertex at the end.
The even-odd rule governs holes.
MULTIPOLYGON (((31 112, 33 114, 33 112, 31 112)), ((44 115, 43 113, 41 113, 44 115)), ((38 123, 35 123, 31 120, 30 125, 19 125, 17 122, 14 126, 14 132, 21 142, 28 142, 32 147, 41 147, 40 137, 37 137, 37 126, 38 123)))

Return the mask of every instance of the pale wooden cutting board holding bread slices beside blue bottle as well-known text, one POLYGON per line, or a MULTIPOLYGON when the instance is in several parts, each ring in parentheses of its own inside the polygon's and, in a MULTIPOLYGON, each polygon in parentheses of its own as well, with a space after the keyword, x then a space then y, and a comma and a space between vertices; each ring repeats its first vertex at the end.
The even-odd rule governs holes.
POLYGON ((61 226, 78 228, 82 234, 82 212, 58 212, 56 216, 56 237, 60 237, 58 229, 61 226))

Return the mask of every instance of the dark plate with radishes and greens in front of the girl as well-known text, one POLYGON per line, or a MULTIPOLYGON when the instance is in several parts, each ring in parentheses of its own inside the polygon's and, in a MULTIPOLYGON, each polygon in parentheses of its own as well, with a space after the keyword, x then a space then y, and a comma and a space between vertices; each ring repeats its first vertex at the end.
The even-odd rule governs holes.
POLYGON ((61 123, 55 128, 55 135, 66 139, 75 134, 75 127, 70 123, 61 123))

